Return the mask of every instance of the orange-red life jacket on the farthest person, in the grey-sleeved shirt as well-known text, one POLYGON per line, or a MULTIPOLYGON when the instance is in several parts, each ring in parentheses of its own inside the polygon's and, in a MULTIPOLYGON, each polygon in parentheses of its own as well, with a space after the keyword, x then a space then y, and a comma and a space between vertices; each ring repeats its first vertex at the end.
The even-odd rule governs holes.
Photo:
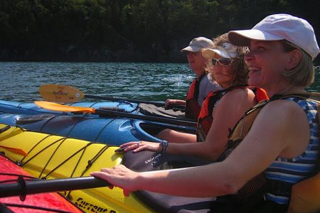
POLYGON ((198 103, 198 96, 199 96, 199 87, 200 82, 203 79, 203 77, 206 74, 203 73, 200 77, 197 77, 193 82, 191 83, 188 94, 186 96, 186 111, 185 115, 188 119, 193 119, 196 121, 198 119, 198 115, 200 113, 200 105, 198 103))

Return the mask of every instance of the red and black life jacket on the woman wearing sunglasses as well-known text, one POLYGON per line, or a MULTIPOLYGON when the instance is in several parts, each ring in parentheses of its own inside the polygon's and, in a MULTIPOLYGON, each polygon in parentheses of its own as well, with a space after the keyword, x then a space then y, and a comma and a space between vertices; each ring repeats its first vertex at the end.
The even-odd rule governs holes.
POLYGON ((228 92, 232 91, 233 89, 238 88, 248 88, 252 89, 252 91, 255 93, 255 99, 257 103, 262 102, 263 100, 269 99, 267 97, 267 93, 264 89, 258 88, 258 87, 230 87, 227 89, 223 89, 220 91, 215 92, 209 92, 206 99, 204 99, 201 107, 201 111, 198 116, 198 123, 197 123, 197 140, 198 141, 205 141, 206 136, 210 130, 210 126, 213 121, 212 112, 213 107, 215 107, 215 104, 220 100, 223 95, 227 94, 228 92))

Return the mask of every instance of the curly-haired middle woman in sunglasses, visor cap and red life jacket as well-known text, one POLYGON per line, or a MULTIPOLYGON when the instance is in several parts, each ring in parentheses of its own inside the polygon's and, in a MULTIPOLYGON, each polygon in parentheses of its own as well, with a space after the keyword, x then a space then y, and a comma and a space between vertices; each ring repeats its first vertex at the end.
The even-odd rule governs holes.
MULTIPOLYGON (((197 134, 166 129, 157 136, 169 142, 132 141, 120 146, 124 151, 134 150, 137 153, 148 150, 220 160, 228 142, 229 129, 258 101, 255 93, 245 87, 249 71, 244 60, 247 48, 230 44, 228 33, 215 38, 212 48, 204 48, 202 54, 210 60, 208 72, 224 89, 210 92, 203 102, 197 134)), ((259 101, 266 98, 267 95, 259 97, 259 101)))

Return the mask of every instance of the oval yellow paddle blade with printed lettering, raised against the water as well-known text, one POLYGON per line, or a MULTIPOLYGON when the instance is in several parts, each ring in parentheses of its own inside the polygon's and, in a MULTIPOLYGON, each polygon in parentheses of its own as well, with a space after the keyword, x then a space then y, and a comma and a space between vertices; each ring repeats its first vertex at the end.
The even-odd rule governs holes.
POLYGON ((60 103, 78 102, 85 97, 79 89, 59 84, 43 84, 39 93, 46 101, 60 103))

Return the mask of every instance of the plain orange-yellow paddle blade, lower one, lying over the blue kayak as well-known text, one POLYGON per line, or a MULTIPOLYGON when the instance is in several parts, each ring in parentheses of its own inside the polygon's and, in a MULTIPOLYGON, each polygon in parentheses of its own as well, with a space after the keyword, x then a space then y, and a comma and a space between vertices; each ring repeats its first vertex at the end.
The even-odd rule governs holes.
POLYGON ((75 106, 65 106, 63 104, 57 104, 53 102, 43 102, 43 101, 36 101, 34 102, 38 107, 43 109, 50 109, 53 111, 65 111, 65 112, 90 112, 92 114, 95 113, 94 108, 89 107, 75 107, 75 106))

